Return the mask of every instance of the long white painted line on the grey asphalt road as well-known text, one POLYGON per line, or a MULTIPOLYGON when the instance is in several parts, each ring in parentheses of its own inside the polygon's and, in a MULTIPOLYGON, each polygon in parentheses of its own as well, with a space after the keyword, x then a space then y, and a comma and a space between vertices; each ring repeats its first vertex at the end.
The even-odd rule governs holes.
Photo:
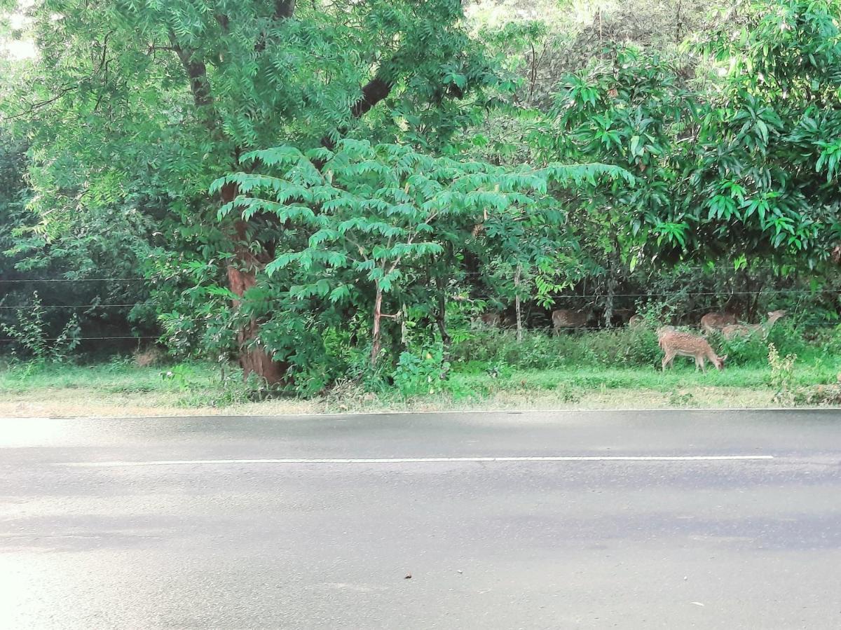
POLYGON ((530 461, 744 461, 774 459, 774 455, 537 455, 524 457, 362 457, 289 459, 153 459, 150 461, 67 462, 66 466, 110 468, 118 466, 179 466, 225 464, 434 464, 441 462, 530 461))

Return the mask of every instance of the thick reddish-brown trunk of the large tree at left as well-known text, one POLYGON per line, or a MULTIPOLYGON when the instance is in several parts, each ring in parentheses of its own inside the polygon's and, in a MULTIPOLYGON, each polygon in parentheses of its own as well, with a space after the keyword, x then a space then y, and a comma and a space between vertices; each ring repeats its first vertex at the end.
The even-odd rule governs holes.
MULTIPOLYGON (((233 201, 237 194, 235 184, 227 184, 222 188, 222 202, 233 201)), ((236 244, 234 246, 235 258, 228 265, 228 287, 237 296, 242 297, 246 291, 257 284, 257 264, 259 261, 246 246, 246 222, 237 221, 234 224, 236 244)), ((241 300, 234 300, 233 306, 239 307, 241 300)), ((260 332, 260 323, 257 319, 251 318, 236 333, 236 341, 239 344, 240 365, 242 375, 248 378, 252 372, 260 376, 269 385, 278 385, 288 381, 287 372, 289 364, 286 361, 275 361, 262 346, 249 347, 251 342, 257 338, 260 332)))

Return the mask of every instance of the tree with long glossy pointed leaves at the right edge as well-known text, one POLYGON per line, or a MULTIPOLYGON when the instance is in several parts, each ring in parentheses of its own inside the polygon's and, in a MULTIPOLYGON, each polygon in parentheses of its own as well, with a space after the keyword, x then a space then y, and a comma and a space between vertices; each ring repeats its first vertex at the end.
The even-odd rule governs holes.
POLYGON ((828 259, 841 237, 839 12, 837 0, 745 3, 706 36, 720 81, 690 138, 675 239, 737 260, 828 259))

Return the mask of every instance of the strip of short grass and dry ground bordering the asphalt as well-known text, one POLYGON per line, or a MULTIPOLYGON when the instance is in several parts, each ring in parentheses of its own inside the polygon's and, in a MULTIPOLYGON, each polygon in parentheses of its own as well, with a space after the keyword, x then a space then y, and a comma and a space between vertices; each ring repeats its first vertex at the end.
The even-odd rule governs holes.
MULTIPOLYGON (((791 387, 834 387, 841 361, 825 357, 795 366, 791 387)), ((457 365, 447 393, 404 399, 340 386, 309 400, 251 402, 236 375, 218 367, 180 364, 138 367, 129 361, 97 365, 0 368, 0 416, 84 417, 182 414, 280 414, 469 409, 778 407, 767 365, 696 373, 678 365, 661 373, 648 367, 479 369, 457 365)), ((831 398, 806 400, 808 404, 831 398)), ((794 402, 791 398, 790 402, 794 402)))

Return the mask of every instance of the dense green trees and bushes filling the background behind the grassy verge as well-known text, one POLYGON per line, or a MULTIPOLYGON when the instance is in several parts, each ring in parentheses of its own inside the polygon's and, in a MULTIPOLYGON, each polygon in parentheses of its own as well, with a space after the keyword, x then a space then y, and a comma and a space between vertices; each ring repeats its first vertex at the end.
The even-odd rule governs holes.
POLYGON ((0 11, 0 351, 315 394, 653 366, 711 310, 835 348, 838 0, 0 11), (547 339, 556 308, 648 326, 547 339))

